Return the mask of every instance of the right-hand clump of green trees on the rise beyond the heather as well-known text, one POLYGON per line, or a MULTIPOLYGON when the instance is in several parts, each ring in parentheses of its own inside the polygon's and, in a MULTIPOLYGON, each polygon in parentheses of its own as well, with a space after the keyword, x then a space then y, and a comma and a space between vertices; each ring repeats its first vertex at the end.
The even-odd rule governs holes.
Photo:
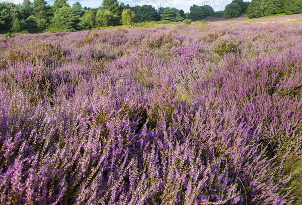
POLYGON ((258 18, 275 14, 299 14, 302 13, 302 0, 234 0, 224 10, 225 18, 239 17, 247 14, 248 18, 258 18))

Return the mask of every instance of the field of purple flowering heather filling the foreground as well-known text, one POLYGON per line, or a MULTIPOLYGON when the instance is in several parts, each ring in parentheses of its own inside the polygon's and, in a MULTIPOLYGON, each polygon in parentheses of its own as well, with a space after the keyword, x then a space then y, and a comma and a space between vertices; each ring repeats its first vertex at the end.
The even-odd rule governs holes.
POLYGON ((1 36, 0 204, 299 203, 301 32, 1 36))

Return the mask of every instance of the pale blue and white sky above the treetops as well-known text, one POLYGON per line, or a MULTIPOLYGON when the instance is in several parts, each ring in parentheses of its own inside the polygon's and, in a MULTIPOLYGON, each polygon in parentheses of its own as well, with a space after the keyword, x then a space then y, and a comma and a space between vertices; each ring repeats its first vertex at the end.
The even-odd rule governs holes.
MULTIPOLYGON (((33 0, 32 0, 33 1, 33 0)), ((74 4, 75 2, 80 2, 82 7, 91 7, 98 8, 101 6, 103 0, 69 0, 67 1, 69 5, 74 4)), ((251 0, 244 0, 245 2, 250 2, 251 0)), ((0 2, 13 2, 15 4, 22 4, 23 0, 0 0, 0 2)), ((222 11, 225 6, 230 4, 232 0, 120 0, 119 2, 123 2, 124 4, 130 5, 130 7, 134 6, 142 6, 142 5, 152 5, 156 9, 160 7, 175 7, 176 9, 182 9, 185 12, 190 12, 190 7, 192 5, 211 6, 214 11, 222 11)), ((53 4, 53 0, 48 0, 50 5, 53 4)))

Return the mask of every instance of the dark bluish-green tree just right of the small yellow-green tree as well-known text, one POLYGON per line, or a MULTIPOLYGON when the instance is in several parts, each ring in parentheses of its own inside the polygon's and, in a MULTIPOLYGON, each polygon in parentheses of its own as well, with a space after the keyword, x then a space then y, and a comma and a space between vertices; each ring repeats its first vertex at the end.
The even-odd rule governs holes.
POLYGON ((136 6, 131 9, 135 12, 134 22, 158 21, 160 16, 156 9, 151 5, 136 6))

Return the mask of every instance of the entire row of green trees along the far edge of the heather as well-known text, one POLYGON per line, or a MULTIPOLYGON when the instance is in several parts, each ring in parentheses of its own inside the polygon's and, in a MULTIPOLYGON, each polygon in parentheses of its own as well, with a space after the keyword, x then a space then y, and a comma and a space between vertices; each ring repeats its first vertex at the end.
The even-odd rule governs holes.
POLYGON ((55 0, 48 5, 45 0, 24 0, 22 4, 0 3, 0 33, 39 33, 44 31, 80 31, 85 29, 132 25, 135 23, 165 21, 192 21, 208 16, 225 18, 247 14, 249 18, 273 14, 302 13, 302 0, 234 0, 224 12, 214 12, 208 6, 193 5, 189 13, 176 8, 159 8, 151 5, 130 7, 118 0, 104 0, 99 8, 82 7, 79 2, 72 6, 66 0, 55 0))

